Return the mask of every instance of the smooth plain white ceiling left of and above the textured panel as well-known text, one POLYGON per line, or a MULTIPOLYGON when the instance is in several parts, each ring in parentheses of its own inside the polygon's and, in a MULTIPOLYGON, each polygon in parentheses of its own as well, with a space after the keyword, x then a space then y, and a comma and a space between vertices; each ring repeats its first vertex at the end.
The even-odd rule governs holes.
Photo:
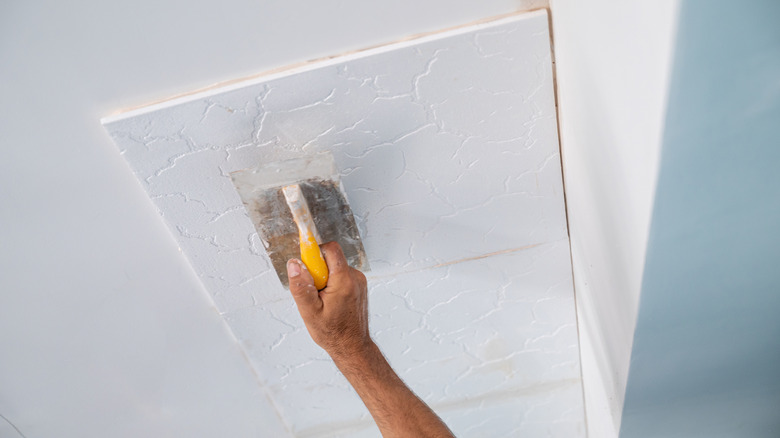
POLYGON ((0 2, 0 436, 287 436, 100 117, 529 3, 0 2))

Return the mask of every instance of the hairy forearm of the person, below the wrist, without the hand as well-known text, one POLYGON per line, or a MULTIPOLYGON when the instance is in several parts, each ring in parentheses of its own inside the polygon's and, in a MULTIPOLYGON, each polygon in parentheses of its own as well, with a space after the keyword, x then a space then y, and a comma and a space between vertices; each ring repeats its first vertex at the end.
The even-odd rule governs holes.
POLYGON ((444 422, 404 384, 373 342, 333 361, 371 412, 382 436, 453 437, 444 422))

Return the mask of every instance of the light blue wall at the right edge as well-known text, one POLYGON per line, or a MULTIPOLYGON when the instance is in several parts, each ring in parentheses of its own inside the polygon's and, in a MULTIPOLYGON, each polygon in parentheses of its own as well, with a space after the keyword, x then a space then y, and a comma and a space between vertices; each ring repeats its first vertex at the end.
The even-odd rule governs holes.
POLYGON ((621 437, 780 436, 778 22, 682 4, 621 437))

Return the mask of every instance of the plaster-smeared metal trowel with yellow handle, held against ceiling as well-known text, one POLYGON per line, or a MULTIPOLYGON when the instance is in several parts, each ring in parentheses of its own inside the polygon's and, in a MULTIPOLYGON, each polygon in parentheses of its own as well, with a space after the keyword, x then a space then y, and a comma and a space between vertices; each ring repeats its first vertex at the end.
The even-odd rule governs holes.
POLYGON ((291 258, 306 264, 317 289, 325 287, 328 269, 319 249, 325 242, 338 242, 350 266, 369 269, 330 153, 261 163, 230 177, 285 287, 291 258))

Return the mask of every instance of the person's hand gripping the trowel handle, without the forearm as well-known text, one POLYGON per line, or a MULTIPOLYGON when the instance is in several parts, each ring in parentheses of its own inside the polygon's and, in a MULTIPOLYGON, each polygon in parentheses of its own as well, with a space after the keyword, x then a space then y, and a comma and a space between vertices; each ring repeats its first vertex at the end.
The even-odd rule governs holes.
POLYGON ((320 246, 328 265, 328 283, 317 291, 306 265, 287 262, 287 276, 298 311, 314 342, 334 359, 366 351, 372 344, 368 331, 366 276, 351 268, 336 242, 320 246))

